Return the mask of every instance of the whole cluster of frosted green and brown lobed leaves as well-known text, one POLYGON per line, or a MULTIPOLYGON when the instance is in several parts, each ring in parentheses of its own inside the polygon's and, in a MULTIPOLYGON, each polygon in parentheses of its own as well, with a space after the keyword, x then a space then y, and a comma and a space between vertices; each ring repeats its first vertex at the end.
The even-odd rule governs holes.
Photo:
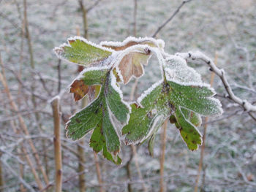
POLYGON ((128 37, 124 42, 101 42, 95 45, 81 37, 68 39, 56 47, 61 59, 85 66, 70 85, 75 101, 88 96, 90 103, 75 113, 67 123, 67 137, 80 139, 93 130, 90 147, 116 164, 121 164, 119 132, 127 145, 149 139, 153 155, 157 130, 169 119, 179 129, 189 150, 202 144, 197 128, 201 115, 220 115, 214 90, 201 81, 200 75, 184 59, 164 52, 161 39, 128 37), (148 88, 136 101, 124 101, 120 84, 144 74, 143 66, 155 54, 162 80, 148 88))

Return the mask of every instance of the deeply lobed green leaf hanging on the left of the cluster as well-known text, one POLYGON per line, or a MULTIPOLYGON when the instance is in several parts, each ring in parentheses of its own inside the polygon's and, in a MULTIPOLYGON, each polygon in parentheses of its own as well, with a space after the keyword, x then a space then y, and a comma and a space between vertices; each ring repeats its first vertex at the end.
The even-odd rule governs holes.
MULTIPOLYGON (((97 72, 90 71, 87 74, 102 74, 105 69, 95 68, 91 70, 97 70, 97 72)), ((80 77, 84 83, 94 85, 94 83, 100 82, 102 87, 97 99, 70 118, 67 123, 67 137, 80 139, 94 129, 90 147, 96 152, 103 150, 103 155, 106 158, 119 164, 121 159, 116 154, 120 150, 120 141, 112 115, 120 123, 127 123, 130 110, 129 106, 122 100, 121 90, 116 84, 116 77, 113 72, 104 72, 104 74, 106 74, 105 78, 93 79, 89 75, 84 76, 86 78, 80 77)))

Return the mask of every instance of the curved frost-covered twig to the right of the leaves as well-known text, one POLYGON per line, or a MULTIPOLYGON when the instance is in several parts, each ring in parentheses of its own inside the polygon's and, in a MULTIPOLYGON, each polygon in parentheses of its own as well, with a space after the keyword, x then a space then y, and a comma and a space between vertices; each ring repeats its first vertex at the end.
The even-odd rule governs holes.
POLYGON ((222 84, 224 85, 225 90, 227 91, 229 99, 231 99, 236 104, 239 104, 241 107, 243 107, 246 112, 256 112, 255 105, 252 105, 251 103, 249 103, 249 101, 238 98, 238 96, 236 96, 233 93, 233 91, 230 87, 230 84, 227 82, 227 77, 225 76, 224 69, 219 69, 214 64, 214 62, 211 61, 211 59, 208 58, 206 55, 204 55, 203 53, 200 53, 200 52, 176 53, 176 55, 181 56, 182 58, 185 58, 185 59, 189 59, 189 58, 192 60, 198 59, 200 61, 203 61, 205 64, 208 64, 208 66, 210 66, 211 71, 214 72, 215 74, 217 74, 219 76, 219 78, 222 80, 222 84))

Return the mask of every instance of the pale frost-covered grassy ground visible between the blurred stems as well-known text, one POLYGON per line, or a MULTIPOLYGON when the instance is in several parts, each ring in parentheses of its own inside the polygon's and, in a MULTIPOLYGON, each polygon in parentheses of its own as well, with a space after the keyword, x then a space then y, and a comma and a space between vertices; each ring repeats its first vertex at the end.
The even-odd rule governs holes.
MULTIPOLYGON (((86 0, 87 7, 92 4, 86 0)), ((151 37, 161 25, 176 10, 181 1, 173 0, 138 0, 138 37, 151 37)), ((7 68, 18 72, 22 69, 22 79, 27 87, 31 85, 31 69, 26 41, 24 42, 23 59, 20 64, 20 13, 23 4, 20 0, 0 0, 0 51, 7 68), (18 11, 20 10, 20 12, 18 11)), ((56 66, 58 59, 53 53, 53 47, 66 42, 67 37, 77 34, 77 28, 82 33, 82 13, 78 1, 74 0, 28 0, 28 17, 31 39, 34 49, 35 71, 45 79, 48 91, 56 95, 58 73, 56 66)), ((102 40, 122 40, 132 35, 133 29, 133 1, 132 0, 103 0, 97 7, 91 9, 88 15, 89 39, 93 42, 102 40)), ((181 12, 176 15, 157 36, 165 41, 165 51, 174 54, 189 50, 201 50, 213 58, 217 54, 217 66, 225 69, 234 92, 252 102, 256 102, 256 1, 255 0, 194 0, 185 4, 181 12), (241 47, 238 49, 238 47, 241 47), (250 83, 250 80, 252 83, 250 83), (244 89, 249 87, 249 89, 244 89)), ((139 82, 138 94, 148 88, 159 77, 159 71, 154 62, 146 67, 146 75, 139 82)), ((208 82, 210 72, 207 66, 191 65, 208 82)), ((76 66, 62 62, 61 77, 62 89, 75 78, 76 66)), ((10 88, 18 101, 18 82, 14 75, 7 70, 10 88)), ((39 75, 36 75, 39 79, 39 75)), ((37 82, 35 93, 45 98, 38 99, 38 109, 42 110, 42 130, 36 129, 33 115, 25 115, 26 123, 31 134, 44 134, 52 137, 52 118, 48 99, 51 96, 44 90, 42 83, 37 82)), ((132 85, 129 83, 128 88, 132 85)), ((12 111, 8 107, 6 96, 1 87, 0 105, 0 135, 3 138, 12 138, 10 118, 12 111), (2 110, 4 109, 4 110, 2 110)), ((128 98, 129 89, 125 88, 128 98)), ((225 93, 222 82, 216 77, 214 88, 222 96, 225 93)), ((34 110, 29 93, 24 92, 20 111, 34 110)), ((239 107, 227 99, 222 99, 225 109, 222 120, 210 119, 206 137, 206 151, 203 166, 202 191, 255 191, 256 188, 256 127, 255 121, 239 107), (236 112, 236 115, 234 115, 236 112), (228 118, 225 118, 228 117, 228 118), (218 120, 218 121, 215 121, 218 120), (252 180, 250 180, 252 177, 252 180)), ((63 111, 71 114, 80 104, 73 104, 71 94, 64 93, 61 100, 63 111)), ((203 126, 200 128, 203 133, 203 126)), ((64 126, 63 126, 64 132, 64 126)), ((64 135, 63 135, 64 136, 64 135)), ((1 136, 0 136, 1 139, 1 136)), ((89 140, 89 136, 86 137, 89 140)), ((146 143, 138 150, 138 162, 149 191, 158 191, 159 188, 159 155, 160 138, 156 140, 155 157, 148 155, 146 143)), ((10 145, 15 139, 7 140, 10 145)), ((39 142, 37 147, 40 149, 39 142)), ((76 147, 74 142, 65 142, 69 147, 76 147)), ((86 185, 88 191, 98 191, 97 175, 95 173, 93 154, 89 145, 86 150, 86 185)), ((15 150, 14 150, 15 153, 15 150)), ((54 164, 53 145, 48 140, 48 157, 51 166, 54 164)), ((121 152, 123 165, 129 159, 129 147, 123 146, 121 152)), ((7 155, 1 158, 9 159, 7 155)), ((168 125, 167 146, 165 158, 165 182, 167 191, 193 191, 200 150, 187 150, 186 145, 179 137, 178 130, 168 125)), ((102 177, 108 183, 108 191, 127 191, 127 175, 124 166, 115 166, 100 156, 102 177)), ((8 163, 18 169, 17 161, 9 159, 8 163)), ((64 180, 74 175, 78 164, 74 154, 64 153, 64 180)), ((18 180, 4 169, 4 179, 10 185, 7 191, 17 191, 18 180)), ((201 177, 201 178, 202 178, 201 177)), ((132 164, 133 181, 138 180, 135 165, 132 164)), ((50 180, 54 179, 53 169, 50 171, 50 180)), ((33 184, 33 176, 26 167, 26 181, 33 184)), ((141 183, 132 184, 134 191, 142 191, 141 183)), ((64 191, 78 191, 78 177, 64 183, 64 191)))

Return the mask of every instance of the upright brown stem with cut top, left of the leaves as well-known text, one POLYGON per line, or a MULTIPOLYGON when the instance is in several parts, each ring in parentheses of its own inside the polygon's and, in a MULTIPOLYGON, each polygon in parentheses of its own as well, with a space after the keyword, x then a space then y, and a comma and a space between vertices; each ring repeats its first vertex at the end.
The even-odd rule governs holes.
POLYGON ((59 96, 51 101, 54 120, 54 159, 55 159, 55 191, 61 192, 62 188, 62 158, 61 158, 61 118, 59 112, 59 96))

